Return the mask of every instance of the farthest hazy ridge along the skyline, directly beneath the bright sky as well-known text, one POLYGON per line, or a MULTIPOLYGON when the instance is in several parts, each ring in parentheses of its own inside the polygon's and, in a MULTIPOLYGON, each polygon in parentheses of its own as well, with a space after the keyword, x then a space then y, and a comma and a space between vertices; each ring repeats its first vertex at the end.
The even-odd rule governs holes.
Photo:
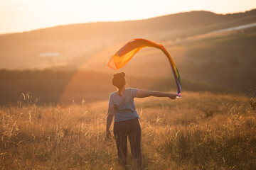
MULTIPOLYGON (((109 38, 117 35, 146 35, 161 31, 206 27, 217 23, 251 18, 255 22, 256 9, 245 13, 216 14, 209 11, 191 11, 159 16, 139 21, 80 23, 14 33, 2 37, 17 40, 65 40, 82 38, 109 38)), ((1 39, 2 39, 1 38, 1 39)))

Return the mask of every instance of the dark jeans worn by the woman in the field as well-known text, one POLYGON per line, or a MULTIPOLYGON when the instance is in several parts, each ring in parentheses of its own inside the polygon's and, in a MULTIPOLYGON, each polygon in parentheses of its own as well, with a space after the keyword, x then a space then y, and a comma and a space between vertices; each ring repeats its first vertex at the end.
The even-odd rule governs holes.
POLYGON ((142 166, 141 136, 142 128, 137 118, 114 123, 114 139, 117 144, 119 164, 127 165, 127 136, 131 146, 135 166, 142 166))

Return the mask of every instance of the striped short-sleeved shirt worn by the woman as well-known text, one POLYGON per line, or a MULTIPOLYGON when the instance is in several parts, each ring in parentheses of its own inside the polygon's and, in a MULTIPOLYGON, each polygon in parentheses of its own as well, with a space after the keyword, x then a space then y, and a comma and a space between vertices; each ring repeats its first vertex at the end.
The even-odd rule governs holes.
POLYGON ((117 91, 110 94, 109 105, 114 106, 114 122, 139 118, 134 103, 137 92, 138 89, 126 88, 122 96, 117 91))

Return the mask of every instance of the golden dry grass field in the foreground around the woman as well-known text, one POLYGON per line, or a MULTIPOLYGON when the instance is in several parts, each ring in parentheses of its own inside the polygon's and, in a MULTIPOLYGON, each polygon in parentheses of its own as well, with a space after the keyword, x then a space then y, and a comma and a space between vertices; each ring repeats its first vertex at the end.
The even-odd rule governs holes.
MULTIPOLYGON (((143 169, 255 169, 254 96, 136 98, 143 169)), ((121 169, 105 138, 107 101, 0 108, 0 169, 121 169)), ((132 169, 132 156, 129 160, 132 169)))

